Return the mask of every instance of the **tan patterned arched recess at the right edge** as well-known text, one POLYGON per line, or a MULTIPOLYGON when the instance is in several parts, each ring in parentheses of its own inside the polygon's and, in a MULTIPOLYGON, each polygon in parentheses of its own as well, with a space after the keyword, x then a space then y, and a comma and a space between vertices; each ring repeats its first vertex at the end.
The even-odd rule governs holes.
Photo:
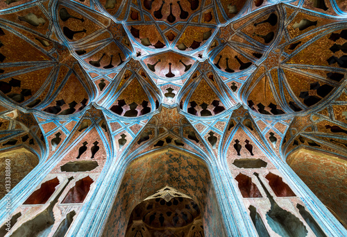
POLYGON ((347 161, 332 154, 301 148, 287 163, 312 192, 347 227, 347 161))

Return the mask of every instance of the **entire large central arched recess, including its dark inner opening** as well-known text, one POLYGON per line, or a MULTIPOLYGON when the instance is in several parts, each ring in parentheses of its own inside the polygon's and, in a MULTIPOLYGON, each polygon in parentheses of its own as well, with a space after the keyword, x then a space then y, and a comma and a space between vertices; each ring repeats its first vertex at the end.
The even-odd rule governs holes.
POLYGON ((102 236, 154 236, 155 232, 226 236, 210 172, 200 158, 161 149, 126 168, 102 236))

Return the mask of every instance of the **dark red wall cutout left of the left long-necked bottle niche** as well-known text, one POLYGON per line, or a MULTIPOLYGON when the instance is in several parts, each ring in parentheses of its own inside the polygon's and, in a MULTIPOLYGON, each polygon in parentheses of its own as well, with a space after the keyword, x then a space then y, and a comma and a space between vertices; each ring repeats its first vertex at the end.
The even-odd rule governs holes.
POLYGON ((40 188, 26 199, 24 205, 45 204, 54 191, 56 191, 58 184, 59 180, 57 177, 42 183, 40 188))

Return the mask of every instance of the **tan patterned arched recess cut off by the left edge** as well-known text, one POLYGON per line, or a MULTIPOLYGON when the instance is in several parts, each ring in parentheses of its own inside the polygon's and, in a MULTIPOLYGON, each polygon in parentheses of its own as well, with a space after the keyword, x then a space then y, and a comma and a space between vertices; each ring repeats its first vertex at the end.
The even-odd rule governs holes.
POLYGON ((10 170, 10 189, 13 189, 38 163, 39 158, 24 147, 1 152, 0 199, 6 195, 6 170, 10 170))

